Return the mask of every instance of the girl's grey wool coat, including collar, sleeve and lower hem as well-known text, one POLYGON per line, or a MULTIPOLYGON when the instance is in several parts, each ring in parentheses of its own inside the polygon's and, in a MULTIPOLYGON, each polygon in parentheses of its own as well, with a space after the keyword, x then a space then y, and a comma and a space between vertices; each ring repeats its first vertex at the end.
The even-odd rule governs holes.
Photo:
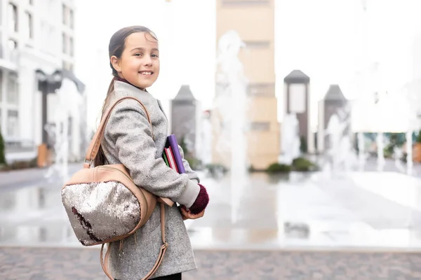
MULTIPOLYGON (((101 142, 109 164, 122 163, 136 185, 149 192, 171 198, 186 207, 192 206, 199 194, 199 178, 184 160, 184 155, 186 174, 173 171, 161 158, 168 136, 168 120, 161 102, 149 92, 121 81, 114 82, 112 94, 109 104, 123 96, 140 99, 151 118, 154 139, 142 106, 133 99, 123 100, 113 109, 101 142)), ((160 225, 158 204, 149 221, 136 232, 137 241, 134 235, 124 239, 122 252, 119 241, 112 242, 109 268, 115 279, 141 279, 149 272, 162 244, 160 225)), ((169 244, 166 255, 151 279, 196 269, 189 236, 176 204, 166 206, 166 241, 169 244)))

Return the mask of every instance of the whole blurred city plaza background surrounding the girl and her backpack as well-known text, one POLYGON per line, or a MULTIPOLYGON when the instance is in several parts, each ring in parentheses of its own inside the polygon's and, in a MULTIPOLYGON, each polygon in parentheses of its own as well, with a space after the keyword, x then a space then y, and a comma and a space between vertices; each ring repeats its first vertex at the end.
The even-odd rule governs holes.
POLYGON ((109 38, 129 25, 159 39, 148 91, 210 193, 185 221, 186 279, 420 279, 420 10, 1 0, 1 279, 105 279, 60 190, 98 127, 109 38))

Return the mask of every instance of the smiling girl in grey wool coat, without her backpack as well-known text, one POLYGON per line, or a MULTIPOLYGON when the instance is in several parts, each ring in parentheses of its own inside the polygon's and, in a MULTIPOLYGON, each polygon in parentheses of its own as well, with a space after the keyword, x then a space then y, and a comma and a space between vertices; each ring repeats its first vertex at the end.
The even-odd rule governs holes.
MULTIPOLYGON (((178 174, 161 158, 166 144, 168 120, 161 102, 147 92, 159 76, 158 41, 152 31, 142 26, 116 31, 109 41, 112 79, 102 113, 123 96, 138 98, 146 112, 133 99, 125 99, 112 111, 105 128, 95 166, 123 164, 136 185, 160 197, 168 197, 182 207, 166 207, 166 240, 169 244, 161 266, 151 279, 181 279, 181 273, 196 269, 192 246, 183 219, 200 218, 208 204, 206 188, 184 160, 186 174, 178 174), (153 132, 153 134, 152 134, 153 132)), ((175 204, 174 204, 175 205, 175 204)), ((161 248, 159 205, 136 232, 110 245, 109 267, 114 279, 142 279, 154 266, 161 248)))

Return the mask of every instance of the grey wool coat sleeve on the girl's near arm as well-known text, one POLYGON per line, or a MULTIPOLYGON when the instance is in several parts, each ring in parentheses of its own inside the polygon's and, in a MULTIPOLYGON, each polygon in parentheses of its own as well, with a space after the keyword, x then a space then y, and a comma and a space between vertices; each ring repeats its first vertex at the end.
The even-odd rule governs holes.
POLYGON ((119 161, 128 169, 137 186, 160 197, 191 207, 200 187, 187 174, 178 174, 156 157, 152 130, 142 106, 124 100, 113 109, 105 136, 114 143, 119 161))

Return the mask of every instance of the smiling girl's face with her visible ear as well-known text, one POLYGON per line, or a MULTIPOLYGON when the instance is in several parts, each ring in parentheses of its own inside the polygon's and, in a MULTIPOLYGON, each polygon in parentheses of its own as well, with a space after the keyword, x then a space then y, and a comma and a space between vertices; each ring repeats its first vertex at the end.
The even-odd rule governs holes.
POLYGON ((142 89, 150 87, 159 76, 158 42, 149 33, 132 33, 120 59, 113 56, 111 62, 121 78, 142 89))

